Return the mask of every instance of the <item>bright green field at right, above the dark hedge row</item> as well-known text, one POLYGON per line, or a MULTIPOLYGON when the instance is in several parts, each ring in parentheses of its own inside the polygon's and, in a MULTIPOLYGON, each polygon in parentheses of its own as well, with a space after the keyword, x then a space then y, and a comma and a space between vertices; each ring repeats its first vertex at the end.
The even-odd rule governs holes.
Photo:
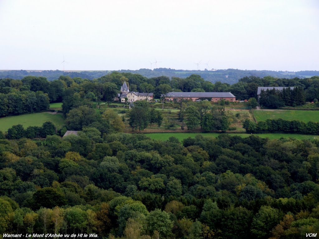
POLYGON ((305 123, 309 121, 319 122, 319 111, 315 110, 255 110, 257 121, 267 119, 300 120, 305 123))

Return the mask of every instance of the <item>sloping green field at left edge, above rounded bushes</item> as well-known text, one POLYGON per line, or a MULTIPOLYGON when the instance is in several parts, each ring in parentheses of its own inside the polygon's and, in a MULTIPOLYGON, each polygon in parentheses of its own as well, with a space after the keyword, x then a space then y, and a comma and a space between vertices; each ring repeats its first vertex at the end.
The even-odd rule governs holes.
POLYGON ((62 114, 41 112, 0 118, 0 131, 7 131, 11 126, 18 124, 23 125, 24 128, 28 126, 41 126, 45 121, 51 121, 58 129, 64 124, 62 114))

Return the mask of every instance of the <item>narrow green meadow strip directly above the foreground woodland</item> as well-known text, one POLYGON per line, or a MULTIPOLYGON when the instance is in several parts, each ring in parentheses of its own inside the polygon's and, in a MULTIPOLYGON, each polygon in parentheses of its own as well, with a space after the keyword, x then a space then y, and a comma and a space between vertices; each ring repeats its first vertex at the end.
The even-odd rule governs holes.
MULTIPOLYGON (((151 139, 156 140, 168 140, 169 137, 174 136, 175 138, 179 139, 179 141, 182 141, 183 139, 186 139, 188 137, 194 138, 197 134, 201 134, 204 137, 217 137, 219 133, 152 133, 152 134, 145 134, 146 136, 150 137, 151 139)), ((229 134, 231 136, 241 136, 241 137, 248 137, 251 134, 229 134)), ((269 138, 269 139, 280 139, 283 138, 295 138, 298 140, 303 139, 319 139, 318 135, 305 135, 305 134, 255 134, 261 138, 269 138)))

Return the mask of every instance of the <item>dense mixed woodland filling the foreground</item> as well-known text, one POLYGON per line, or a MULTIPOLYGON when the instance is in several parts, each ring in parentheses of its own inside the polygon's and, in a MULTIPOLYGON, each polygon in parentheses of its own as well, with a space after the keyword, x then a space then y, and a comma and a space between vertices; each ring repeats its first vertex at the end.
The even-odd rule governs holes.
POLYGON ((1 140, 0 233, 303 238, 319 229, 318 140, 100 135, 1 140))

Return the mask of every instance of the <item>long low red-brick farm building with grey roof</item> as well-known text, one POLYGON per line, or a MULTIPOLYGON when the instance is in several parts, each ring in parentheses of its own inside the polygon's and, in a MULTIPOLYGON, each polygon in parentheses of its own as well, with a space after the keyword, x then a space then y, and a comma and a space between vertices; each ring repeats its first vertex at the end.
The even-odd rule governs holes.
POLYGON ((210 99, 212 102, 218 102, 221 99, 229 102, 235 102, 236 97, 230 92, 168 92, 165 95, 166 101, 190 99, 192 101, 210 99))

